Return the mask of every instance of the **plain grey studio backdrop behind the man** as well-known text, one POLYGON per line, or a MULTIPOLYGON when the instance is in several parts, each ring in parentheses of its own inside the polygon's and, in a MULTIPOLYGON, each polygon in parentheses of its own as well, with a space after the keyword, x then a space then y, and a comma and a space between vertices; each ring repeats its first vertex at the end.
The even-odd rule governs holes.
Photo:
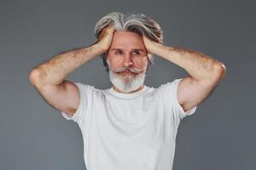
MULTIPOLYGON (((113 11, 143 13, 160 23, 168 46, 223 62, 226 77, 177 133, 174 170, 254 170, 255 1, 1 1, 0 168, 85 169, 79 126, 50 107, 28 81, 46 59, 96 41, 96 21, 113 11)), ((156 57, 145 83, 157 88, 187 72, 156 57)), ((68 77, 110 88, 102 59, 68 77)))

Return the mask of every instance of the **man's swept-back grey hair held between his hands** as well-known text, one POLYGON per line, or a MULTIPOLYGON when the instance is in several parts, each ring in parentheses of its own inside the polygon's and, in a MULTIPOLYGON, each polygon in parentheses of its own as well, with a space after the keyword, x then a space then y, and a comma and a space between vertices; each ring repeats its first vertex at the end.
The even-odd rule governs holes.
MULTIPOLYGON (((113 25, 115 27, 115 31, 135 32, 139 35, 148 37, 148 39, 154 42, 160 42, 163 44, 163 31, 160 25, 145 14, 122 14, 119 12, 109 13, 103 16, 102 19, 98 20, 96 23, 94 29, 96 38, 99 38, 102 30, 109 25, 113 25)), ((101 54, 101 57, 103 60, 103 65, 105 66, 106 71, 109 73, 106 54, 101 54)), ((152 58, 148 58, 148 63, 149 65, 154 64, 153 54, 152 58)))

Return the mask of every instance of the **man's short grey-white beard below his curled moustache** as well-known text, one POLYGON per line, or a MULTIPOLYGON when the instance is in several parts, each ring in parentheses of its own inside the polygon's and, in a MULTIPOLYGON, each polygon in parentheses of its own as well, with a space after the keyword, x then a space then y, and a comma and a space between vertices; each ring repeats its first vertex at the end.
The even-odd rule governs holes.
POLYGON ((113 86, 119 88, 124 93, 140 88, 144 83, 145 77, 146 73, 144 71, 133 77, 132 75, 122 75, 109 70, 109 78, 113 86))

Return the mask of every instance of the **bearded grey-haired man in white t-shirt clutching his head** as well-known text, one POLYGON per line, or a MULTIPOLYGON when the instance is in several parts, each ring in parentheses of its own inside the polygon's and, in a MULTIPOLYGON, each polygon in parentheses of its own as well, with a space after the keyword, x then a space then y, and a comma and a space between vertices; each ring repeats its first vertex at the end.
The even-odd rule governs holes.
POLYGON ((171 170, 177 127, 217 87, 224 64, 166 46, 160 25, 144 14, 107 14, 96 23, 95 35, 89 47, 57 54, 32 69, 32 85, 62 116, 79 124, 88 170, 171 170), (65 80, 98 55, 112 88, 65 80), (154 55, 189 76, 148 87, 143 82, 154 55))

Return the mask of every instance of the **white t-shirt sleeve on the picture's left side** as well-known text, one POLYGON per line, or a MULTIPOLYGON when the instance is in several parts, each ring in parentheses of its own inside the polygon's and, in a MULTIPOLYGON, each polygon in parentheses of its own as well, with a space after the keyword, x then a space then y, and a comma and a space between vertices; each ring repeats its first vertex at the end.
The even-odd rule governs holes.
POLYGON ((80 82, 74 82, 74 84, 79 88, 79 108, 73 114, 73 116, 67 115, 64 111, 61 111, 61 115, 64 116, 67 120, 73 120, 73 122, 78 122, 79 124, 84 122, 85 116, 90 111, 90 104, 93 93, 93 86, 82 84, 80 82))

